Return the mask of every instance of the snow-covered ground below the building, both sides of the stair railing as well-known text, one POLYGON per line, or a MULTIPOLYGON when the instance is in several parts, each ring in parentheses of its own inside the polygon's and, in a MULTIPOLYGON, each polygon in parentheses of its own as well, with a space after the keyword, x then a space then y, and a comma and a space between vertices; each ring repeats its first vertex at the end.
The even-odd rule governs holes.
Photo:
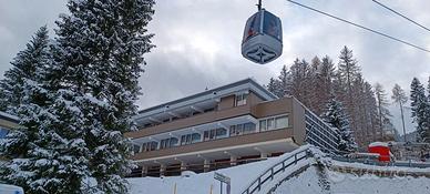
MULTIPOLYGON (((294 153, 305 150, 307 146, 300 147, 294 153)), ((239 165, 235 167, 218 170, 216 172, 227 175, 232 178, 232 194, 239 194, 246 186, 250 184, 259 174, 273 166, 275 163, 286 159, 293 153, 286 153, 278 157, 272 157, 266 161, 255 162, 250 164, 239 165)), ((317 152, 318 157, 318 152, 317 152)), ((322 161, 331 162, 337 166, 346 167, 368 167, 369 170, 381 170, 383 166, 371 166, 358 163, 342 163, 322 159, 322 161)), ((279 183, 290 172, 295 172, 301 166, 309 163, 315 163, 315 159, 310 157, 300 161, 297 165, 289 167, 286 173, 275 176, 275 180, 266 184, 262 193, 272 188, 276 183, 279 183), (264 192, 263 192, 264 191, 264 192)), ((408 172, 430 172, 430 169, 408 169, 408 167, 389 167, 390 171, 408 171, 408 172)), ((219 182, 214 180, 214 172, 193 174, 185 176, 171 177, 137 177, 129 178, 132 194, 219 194, 219 182), (211 192, 212 190, 212 192, 211 192)), ((298 194, 316 194, 316 193, 334 193, 334 194, 430 194, 430 178, 426 177, 378 177, 376 175, 354 175, 350 173, 339 173, 324 167, 318 170, 315 165, 308 167, 305 172, 296 175, 288 181, 283 182, 275 193, 298 193, 298 194)), ((225 186, 224 192, 225 193, 225 186)))

